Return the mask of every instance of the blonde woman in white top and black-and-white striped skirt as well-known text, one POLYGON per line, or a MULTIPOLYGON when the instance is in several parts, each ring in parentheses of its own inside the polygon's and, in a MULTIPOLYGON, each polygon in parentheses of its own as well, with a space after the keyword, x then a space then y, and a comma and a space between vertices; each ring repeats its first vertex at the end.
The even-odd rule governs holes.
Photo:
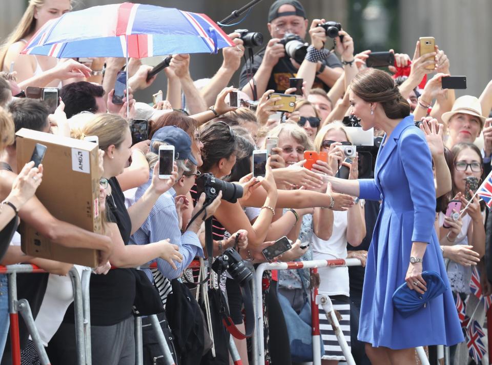
MULTIPOLYGON (((343 147, 352 145, 345 127, 340 122, 334 122, 324 126, 318 132, 314 141, 318 152, 328 153, 328 163, 332 174, 336 176, 342 162, 345 160, 343 147)), ((349 179, 358 178, 358 157, 353 158, 350 167, 349 179)), ((314 168, 317 165, 313 165, 314 168)), ((329 188, 330 189, 330 188, 329 188)), ((364 209, 358 202, 347 211, 334 212, 330 209, 315 208, 313 226, 320 225, 331 227, 323 230, 320 237, 313 233, 313 259, 329 260, 335 258, 347 258, 347 242, 352 246, 359 246, 365 237, 364 209)), ((315 230, 316 232, 318 230, 315 230)), ((330 296, 335 310, 342 315, 340 326, 350 346, 350 302, 348 301, 348 268, 319 268, 320 276, 319 294, 330 296)), ((319 311, 320 331, 324 343, 323 365, 336 364, 344 360, 343 353, 338 345, 337 338, 326 315, 320 307, 319 311)))

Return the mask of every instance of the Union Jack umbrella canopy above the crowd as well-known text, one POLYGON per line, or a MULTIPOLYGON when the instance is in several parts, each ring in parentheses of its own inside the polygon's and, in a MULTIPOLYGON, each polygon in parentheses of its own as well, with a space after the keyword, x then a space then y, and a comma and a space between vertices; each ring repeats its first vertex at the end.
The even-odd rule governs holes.
POLYGON ((58 58, 144 58, 217 53, 234 46, 207 15, 142 4, 113 4, 66 13, 40 28, 21 53, 58 58))

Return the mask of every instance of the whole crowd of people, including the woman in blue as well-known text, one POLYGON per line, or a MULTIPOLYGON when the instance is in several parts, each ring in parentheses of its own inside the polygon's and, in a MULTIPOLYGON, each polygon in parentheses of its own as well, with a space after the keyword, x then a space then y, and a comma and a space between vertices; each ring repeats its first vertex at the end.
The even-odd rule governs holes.
MULTIPOLYGON (((413 57, 391 50, 389 71, 367 67, 370 50, 355 53, 350 34, 340 27, 332 36, 326 19, 309 22, 298 0, 272 3, 265 19, 271 39, 242 68, 242 34, 229 34, 234 46, 221 50, 221 66, 205 80, 191 77, 189 54, 172 55, 165 75, 151 78, 152 67, 134 58, 126 64, 124 58, 20 54, 49 19, 71 10, 71 0, 30 0, 0 48, 0 263, 33 263, 46 271, 19 275, 17 292, 30 303, 52 364, 77 362, 67 274, 87 268, 24 253, 19 222, 58 245, 98 250, 89 290, 94 364, 134 364, 134 316, 152 313, 176 363, 229 364, 230 327, 248 332, 254 314, 243 278, 226 269, 233 266, 228 255, 237 259, 234 265, 252 269, 284 236, 291 243, 274 260, 356 258, 361 266, 320 268, 317 276, 307 269, 265 272, 257 283, 263 289, 257 310, 264 315, 265 364, 313 356, 303 359, 292 346, 302 334, 289 324, 306 311, 311 317, 315 286, 339 314, 355 363, 415 364, 416 347, 426 347, 433 358, 437 345, 450 347, 453 364, 469 363, 467 323, 484 326, 481 296, 492 294, 485 260, 492 215, 471 190, 480 184, 468 184, 491 171, 492 81, 478 98, 456 98, 454 89, 441 85, 452 74, 452 60, 437 45, 421 55, 419 42, 413 57), (286 39, 304 42, 308 33, 305 56, 295 58, 286 39), (129 76, 128 93, 115 104, 121 70, 129 76), (237 71, 237 88, 230 87, 237 71), (157 93, 155 80, 164 76, 162 101, 135 100, 137 90, 157 93), (302 79, 302 86, 290 87, 290 78, 302 79), (58 88, 56 110, 26 97, 28 87, 58 88), (236 93, 239 107, 231 106, 236 93), (286 95, 295 95, 292 111, 281 103, 286 95), (131 127, 142 119, 148 138, 135 141, 131 127), (23 128, 60 140, 97 136, 100 232, 53 216, 36 197, 48 171, 33 161, 17 164, 15 133, 23 128), (370 143, 359 146, 367 131, 370 143), (254 151, 272 141, 264 173, 253 176, 254 151), (159 177, 162 146, 175 151, 166 178, 159 177), (316 159, 308 161, 306 151, 316 159), (204 191, 210 179, 226 188, 204 191), (230 187, 242 194, 231 197, 230 187), (211 235, 204 222, 211 222, 211 235), (190 268, 193 261, 200 269, 190 268), (217 270, 224 261, 228 265, 217 270), (401 313, 393 294, 403 284, 423 295, 429 271, 441 277, 445 290, 415 312, 401 313), (475 277, 480 296, 470 286, 475 277), (234 326, 224 325, 224 307, 234 326)), ((0 288, 0 351, 7 364, 5 274, 0 288)), ((319 319, 322 363, 346 360, 321 306, 319 319)), ((144 363, 165 363, 146 316, 142 333, 144 363)), ((248 336, 234 337, 245 364, 252 362, 248 336)), ((25 326, 20 346, 23 364, 40 363, 25 326)))

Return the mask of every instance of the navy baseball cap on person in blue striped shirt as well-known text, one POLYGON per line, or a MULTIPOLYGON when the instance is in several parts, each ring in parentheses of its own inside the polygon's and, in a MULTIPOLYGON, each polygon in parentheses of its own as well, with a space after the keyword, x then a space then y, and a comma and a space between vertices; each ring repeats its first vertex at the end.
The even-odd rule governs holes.
POLYGON ((174 146, 174 157, 176 159, 189 159, 197 165, 195 157, 191 153, 191 138, 181 128, 176 126, 166 126, 158 129, 150 141, 151 151, 158 154, 159 148, 154 148, 154 141, 164 142, 174 146))

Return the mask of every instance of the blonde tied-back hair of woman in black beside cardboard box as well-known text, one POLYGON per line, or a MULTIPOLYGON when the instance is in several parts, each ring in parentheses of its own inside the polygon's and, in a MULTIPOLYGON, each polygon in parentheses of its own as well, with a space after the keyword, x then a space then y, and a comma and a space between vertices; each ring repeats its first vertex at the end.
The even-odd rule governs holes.
POLYGON ((97 114, 81 129, 72 131, 72 138, 84 139, 87 136, 99 138, 99 148, 106 151, 109 146, 118 148, 130 129, 127 119, 116 114, 97 114))

